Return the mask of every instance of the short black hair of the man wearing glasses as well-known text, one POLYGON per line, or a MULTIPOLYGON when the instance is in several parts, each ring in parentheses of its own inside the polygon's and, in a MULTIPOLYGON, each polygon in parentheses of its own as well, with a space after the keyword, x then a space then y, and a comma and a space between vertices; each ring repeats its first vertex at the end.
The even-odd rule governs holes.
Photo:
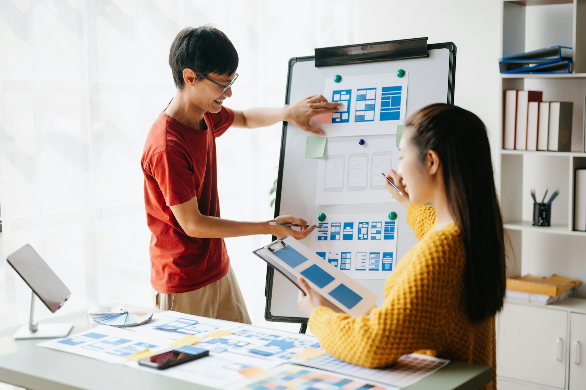
POLYGON ((210 73, 229 76, 238 68, 238 53, 226 34, 217 28, 210 25, 186 27, 171 44, 169 66, 175 86, 182 90, 183 69, 189 68, 205 76, 210 73))

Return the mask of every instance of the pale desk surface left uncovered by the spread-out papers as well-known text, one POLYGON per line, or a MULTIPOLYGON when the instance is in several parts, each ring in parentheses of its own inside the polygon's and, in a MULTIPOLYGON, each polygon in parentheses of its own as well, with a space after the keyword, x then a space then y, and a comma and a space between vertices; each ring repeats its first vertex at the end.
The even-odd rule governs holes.
MULTIPOLYGON (((126 307, 128 310, 145 309, 130 305, 126 307)), ((155 312, 160 311, 155 310, 155 312)), ((86 312, 87 310, 80 310, 40 322, 73 322, 70 334, 76 334, 97 325, 87 322, 86 312)), ((0 382, 35 390, 211 389, 122 365, 38 347, 36 344, 42 340, 12 340, 12 335, 18 328, 16 326, 0 331, 0 338, 4 338, 2 345, 8 343, 15 347, 12 349, 16 350, 9 354, 2 354, 0 351, 0 382)), ((410 386, 408 390, 476 390, 489 382, 489 367, 451 362, 435 374, 410 386)))

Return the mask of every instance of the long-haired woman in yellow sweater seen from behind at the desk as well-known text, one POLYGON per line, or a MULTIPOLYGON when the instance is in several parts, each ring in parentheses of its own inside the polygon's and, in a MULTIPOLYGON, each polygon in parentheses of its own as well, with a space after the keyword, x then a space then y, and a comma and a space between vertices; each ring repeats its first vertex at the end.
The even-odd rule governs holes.
POLYGON ((455 105, 432 104, 407 120, 401 162, 387 190, 405 207, 419 242, 386 281, 384 303, 359 318, 323 306, 305 283, 299 308, 334 357, 383 367, 425 353, 492 367, 495 314, 505 293, 505 245, 482 121, 455 105), (426 206, 431 203, 434 206, 426 206), (421 205, 421 206, 415 206, 421 205))

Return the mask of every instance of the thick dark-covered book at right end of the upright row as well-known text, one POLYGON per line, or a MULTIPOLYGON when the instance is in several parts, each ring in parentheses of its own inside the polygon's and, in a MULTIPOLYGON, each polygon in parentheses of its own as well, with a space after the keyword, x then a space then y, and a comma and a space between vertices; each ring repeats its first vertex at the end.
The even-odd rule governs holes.
POLYGON ((573 108, 571 101, 550 102, 547 150, 570 152, 573 108))

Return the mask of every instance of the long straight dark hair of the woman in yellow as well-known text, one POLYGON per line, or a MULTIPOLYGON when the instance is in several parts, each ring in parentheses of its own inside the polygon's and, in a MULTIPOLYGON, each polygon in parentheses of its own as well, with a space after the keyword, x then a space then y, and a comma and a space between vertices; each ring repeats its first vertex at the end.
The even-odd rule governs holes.
POLYGON ((505 295, 505 238, 486 127, 470 111, 431 104, 407 119, 406 135, 423 163, 440 157, 449 210, 466 251, 464 303, 473 322, 492 317, 505 295))

